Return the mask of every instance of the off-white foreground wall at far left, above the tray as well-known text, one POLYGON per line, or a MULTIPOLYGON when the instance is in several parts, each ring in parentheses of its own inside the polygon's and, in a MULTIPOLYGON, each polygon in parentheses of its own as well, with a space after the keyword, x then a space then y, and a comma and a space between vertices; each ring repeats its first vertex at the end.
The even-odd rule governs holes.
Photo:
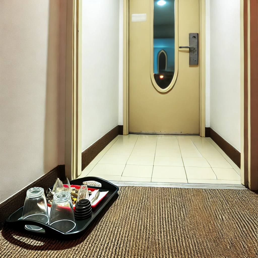
POLYGON ((58 165, 59 0, 0 1, 0 203, 58 165))

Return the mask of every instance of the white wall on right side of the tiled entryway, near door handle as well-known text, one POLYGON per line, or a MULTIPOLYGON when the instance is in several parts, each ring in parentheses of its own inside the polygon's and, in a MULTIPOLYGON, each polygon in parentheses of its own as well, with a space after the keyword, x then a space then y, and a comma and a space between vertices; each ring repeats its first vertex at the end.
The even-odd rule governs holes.
POLYGON ((210 0, 210 127, 240 151, 240 2, 210 0))

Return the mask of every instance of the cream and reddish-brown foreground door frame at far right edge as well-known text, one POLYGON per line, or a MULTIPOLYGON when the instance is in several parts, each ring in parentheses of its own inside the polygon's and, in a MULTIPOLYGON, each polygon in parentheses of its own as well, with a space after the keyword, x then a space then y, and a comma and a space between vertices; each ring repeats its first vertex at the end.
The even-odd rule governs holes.
POLYGON ((258 190, 257 1, 240 0, 240 18, 241 183, 251 190, 258 190))

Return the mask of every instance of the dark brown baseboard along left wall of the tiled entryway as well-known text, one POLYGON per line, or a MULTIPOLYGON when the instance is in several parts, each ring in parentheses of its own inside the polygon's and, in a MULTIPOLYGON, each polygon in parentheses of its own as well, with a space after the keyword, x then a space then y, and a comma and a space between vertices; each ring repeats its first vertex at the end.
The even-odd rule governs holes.
POLYGON ((87 167, 92 160, 119 134, 119 125, 106 133, 98 141, 93 143, 88 149, 82 152, 82 170, 87 167))

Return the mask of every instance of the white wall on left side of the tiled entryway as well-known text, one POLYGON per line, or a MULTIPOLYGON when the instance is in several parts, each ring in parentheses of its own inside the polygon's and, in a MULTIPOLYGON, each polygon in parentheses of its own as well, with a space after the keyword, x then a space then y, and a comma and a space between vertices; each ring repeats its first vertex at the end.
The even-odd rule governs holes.
POLYGON ((82 3, 82 151, 118 125, 119 0, 82 3))

